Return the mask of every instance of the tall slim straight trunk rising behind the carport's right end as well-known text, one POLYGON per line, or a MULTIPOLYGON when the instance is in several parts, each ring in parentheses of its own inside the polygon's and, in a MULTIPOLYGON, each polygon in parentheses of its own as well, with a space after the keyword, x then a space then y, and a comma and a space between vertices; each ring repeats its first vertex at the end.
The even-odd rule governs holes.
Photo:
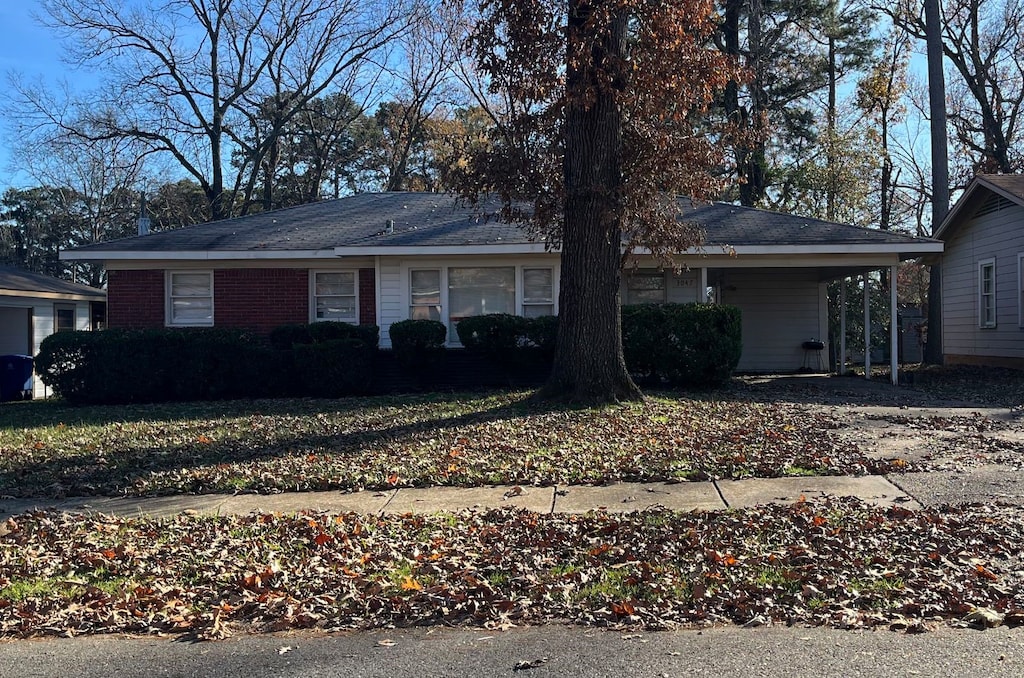
MULTIPOLYGON (((925 0, 928 40, 928 100, 932 132, 932 232, 949 211, 949 158, 946 143, 946 84, 942 73, 939 0, 925 0)), ((928 342, 925 363, 942 365, 942 271, 932 264, 928 281, 928 342)))

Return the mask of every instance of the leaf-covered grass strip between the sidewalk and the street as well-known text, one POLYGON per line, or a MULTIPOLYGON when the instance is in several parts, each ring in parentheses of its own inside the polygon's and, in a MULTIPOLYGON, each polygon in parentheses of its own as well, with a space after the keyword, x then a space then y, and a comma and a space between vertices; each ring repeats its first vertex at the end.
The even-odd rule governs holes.
POLYGON ((1020 509, 389 517, 39 512, 0 523, 0 637, 97 632, 1024 621, 1020 509))

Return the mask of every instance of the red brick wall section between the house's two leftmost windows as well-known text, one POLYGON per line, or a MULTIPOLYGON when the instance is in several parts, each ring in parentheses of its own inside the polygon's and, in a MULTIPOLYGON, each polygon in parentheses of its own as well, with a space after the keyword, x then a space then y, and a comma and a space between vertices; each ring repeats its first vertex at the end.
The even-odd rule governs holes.
POLYGON ((309 322, 309 271, 227 268, 213 271, 213 325, 269 333, 309 322))

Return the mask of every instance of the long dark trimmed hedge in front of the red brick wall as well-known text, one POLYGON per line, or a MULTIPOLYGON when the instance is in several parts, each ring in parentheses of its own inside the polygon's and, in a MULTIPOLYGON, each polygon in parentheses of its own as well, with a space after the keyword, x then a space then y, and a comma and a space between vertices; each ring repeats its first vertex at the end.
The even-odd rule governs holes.
POLYGON ((78 404, 369 392, 378 330, 327 338, 343 333, 334 327, 298 331, 295 335, 310 341, 282 349, 234 329, 60 332, 42 342, 36 372, 58 395, 78 404))

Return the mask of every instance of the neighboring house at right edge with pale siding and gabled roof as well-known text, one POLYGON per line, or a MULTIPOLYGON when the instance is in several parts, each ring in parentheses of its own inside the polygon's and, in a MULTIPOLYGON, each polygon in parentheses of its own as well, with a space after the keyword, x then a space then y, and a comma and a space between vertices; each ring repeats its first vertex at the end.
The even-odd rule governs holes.
POLYGON ((1024 369, 1024 175, 975 177, 935 237, 945 363, 1024 369))

